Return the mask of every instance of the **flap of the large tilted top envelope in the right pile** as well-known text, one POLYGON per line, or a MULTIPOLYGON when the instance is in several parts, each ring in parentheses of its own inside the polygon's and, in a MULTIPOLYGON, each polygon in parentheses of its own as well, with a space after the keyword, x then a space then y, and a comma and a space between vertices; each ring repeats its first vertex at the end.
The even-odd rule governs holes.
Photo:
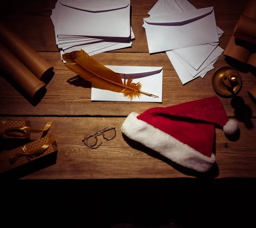
POLYGON ((212 11, 213 7, 208 7, 203 9, 178 12, 174 14, 166 14, 156 17, 147 17, 144 18, 144 20, 146 23, 151 25, 180 26, 206 17, 209 14, 211 14, 212 11))

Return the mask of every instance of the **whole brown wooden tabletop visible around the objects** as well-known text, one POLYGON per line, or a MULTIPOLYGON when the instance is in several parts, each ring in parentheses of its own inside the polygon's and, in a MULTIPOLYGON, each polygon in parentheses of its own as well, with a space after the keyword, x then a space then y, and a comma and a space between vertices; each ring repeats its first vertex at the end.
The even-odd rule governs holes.
MULTIPOLYGON (((224 30, 220 46, 225 48, 247 1, 190 0, 196 8, 214 6, 217 25, 224 30)), ((55 0, 9 1, 1 9, 1 17, 17 34, 54 66, 55 75, 47 85, 47 93, 40 103, 33 105, 12 85, 0 77, 0 115, 3 119, 30 120, 33 127, 42 128, 52 120, 50 134, 58 144, 57 163, 29 174, 24 179, 107 179, 107 178, 166 178, 188 177, 197 174, 176 167, 175 164, 140 145, 129 145, 120 126, 131 112, 141 113, 155 106, 169 106, 205 97, 215 96, 211 78, 198 78, 183 86, 165 53, 148 53, 143 17, 156 0, 131 0, 131 26, 136 40, 132 48, 97 54, 95 59, 105 65, 163 66, 163 103, 91 102, 90 83, 68 83, 76 74, 61 62, 55 44, 54 28, 50 19, 55 0), (92 150, 82 143, 85 134, 107 126, 116 127, 116 138, 92 150), (177 168, 177 169, 176 169, 177 168)), ((215 63, 215 69, 226 66, 224 57, 215 63)), ((256 177, 256 106, 247 95, 256 85, 250 73, 241 74, 243 86, 234 99, 221 98, 227 115, 239 122, 240 138, 230 141, 224 132, 216 129, 217 172, 211 177, 256 177), (240 100, 240 103, 238 102, 240 100), (233 103, 236 104, 234 109, 233 103), (233 105, 233 107, 232 107, 233 105), (238 106, 238 107, 237 107, 238 106), (219 170, 219 171, 218 171, 219 170)), ((208 174, 207 174, 208 175, 208 174)))

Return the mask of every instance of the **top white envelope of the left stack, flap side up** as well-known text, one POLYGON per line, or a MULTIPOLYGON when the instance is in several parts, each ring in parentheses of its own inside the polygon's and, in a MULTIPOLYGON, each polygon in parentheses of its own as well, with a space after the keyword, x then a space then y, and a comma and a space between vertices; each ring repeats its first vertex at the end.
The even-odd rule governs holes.
MULTIPOLYGON (((129 37, 130 0, 59 0, 58 35, 129 37)), ((58 6, 58 7, 57 7, 58 6)))

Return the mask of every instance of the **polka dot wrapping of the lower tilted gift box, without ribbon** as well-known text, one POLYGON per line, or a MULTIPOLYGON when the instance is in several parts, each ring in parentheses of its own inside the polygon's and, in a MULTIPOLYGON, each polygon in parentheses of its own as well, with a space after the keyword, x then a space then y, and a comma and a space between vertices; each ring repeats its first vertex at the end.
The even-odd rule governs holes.
MULTIPOLYGON (((45 145, 50 138, 52 138, 53 136, 50 134, 47 134, 46 137, 43 137, 39 140, 35 140, 33 142, 29 142, 28 144, 26 144, 26 152, 41 148, 43 145, 45 145)), ((10 169, 16 168, 17 166, 26 164, 28 162, 33 162, 36 159, 39 159, 40 157, 43 157, 47 154, 51 154, 53 152, 56 152, 58 150, 57 148, 57 144, 54 141, 41 155, 36 156, 36 157, 29 157, 29 159, 27 159, 26 156, 23 157, 19 157, 17 158, 17 160, 15 160, 15 162, 10 162, 10 160, 5 160, 6 157, 10 157, 10 156, 15 156, 17 154, 23 153, 23 149, 22 147, 18 147, 14 150, 5 152, 5 153, 0 153, 0 160, 4 160, 2 162, 0 162, 0 174, 3 172, 6 172, 10 169)))

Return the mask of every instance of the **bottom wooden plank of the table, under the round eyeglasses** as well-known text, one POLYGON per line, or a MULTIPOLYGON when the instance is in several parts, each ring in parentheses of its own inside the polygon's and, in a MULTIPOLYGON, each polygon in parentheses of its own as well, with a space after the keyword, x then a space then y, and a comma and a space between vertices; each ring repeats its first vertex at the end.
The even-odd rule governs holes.
MULTIPOLYGON (((128 144, 120 127, 125 120, 121 117, 12 117, 10 119, 30 120, 35 128, 42 128, 47 121, 53 124, 49 134, 56 136, 58 157, 55 165, 30 174, 24 179, 108 179, 108 178, 167 178, 188 177, 195 173, 182 169, 158 154, 139 146, 128 144), (93 150, 81 141, 85 134, 92 134, 107 126, 116 127, 116 138, 105 141, 93 150), (178 168, 175 169, 175 168, 178 168)), ((256 120, 252 119, 252 124, 256 120)), ((224 132, 216 130, 216 160, 218 171, 207 176, 256 177, 255 133, 239 122, 240 138, 228 140, 224 132), (254 135, 253 135, 254 134, 254 135)), ((33 134, 37 139, 40 134, 33 134)))

